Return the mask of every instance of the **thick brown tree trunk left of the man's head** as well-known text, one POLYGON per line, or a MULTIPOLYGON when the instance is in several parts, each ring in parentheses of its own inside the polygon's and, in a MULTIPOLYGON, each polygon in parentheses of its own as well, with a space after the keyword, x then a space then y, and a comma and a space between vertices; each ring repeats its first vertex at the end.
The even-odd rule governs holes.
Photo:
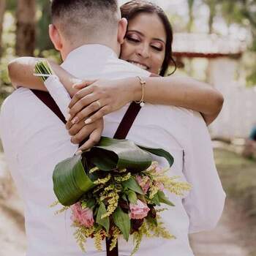
POLYGON ((33 56, 36 39, 35 0, 18 0, 16 17, 16 54, 33 56))

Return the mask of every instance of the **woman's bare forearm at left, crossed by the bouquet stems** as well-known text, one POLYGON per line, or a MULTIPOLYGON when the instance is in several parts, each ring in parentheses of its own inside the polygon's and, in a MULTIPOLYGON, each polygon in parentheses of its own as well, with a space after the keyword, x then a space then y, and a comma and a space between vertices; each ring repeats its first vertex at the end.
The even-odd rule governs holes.
MULTIPOLYGON (((39 58, 33 57, 20 57, 8 64, 9 76, 12 82, 12 86, 17 89, 18 86, 23 86, 29 89, 37 89, 40 91, 47 91, 44 83, 38 77, 34 76, 34 66, 37 61, 42 61, 39 58)), ((61 83, 65 86, 70 96, 72 97, 78 90, 74 89, 72 85, 78 83, 78 79, 69 74, 65 69, 62 69, 54 61, 48 61, 50 67, 61 80, 61 83)))

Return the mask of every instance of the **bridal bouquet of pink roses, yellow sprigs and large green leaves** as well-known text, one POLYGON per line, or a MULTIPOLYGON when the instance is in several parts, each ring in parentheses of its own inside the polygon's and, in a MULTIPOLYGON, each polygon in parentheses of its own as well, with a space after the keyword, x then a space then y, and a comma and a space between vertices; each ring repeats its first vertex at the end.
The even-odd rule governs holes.
MULTIPOLYGON (((40 62, 36 70, 45 74, 50 69, 40 62)), ((143 237, 175 238, 160 217, 166 210, 163 204, 174 206, 165 191, 180 196, 191 187, 178 181, 177 176, 167 176, 170 167, 159 167, 153 154, 167 159, 170 167, 173 165, 173 157, 161 148, 106 137, 90 151, 56 165, 53 189, 64 206, 62 210, 71 208, 74 235, 83 251, 87 238, 94 238, 99 250, 102 240, 108 238, 111 250, 118 236, 126 241, 132 236, 132 255, 138 251, 143 237)))

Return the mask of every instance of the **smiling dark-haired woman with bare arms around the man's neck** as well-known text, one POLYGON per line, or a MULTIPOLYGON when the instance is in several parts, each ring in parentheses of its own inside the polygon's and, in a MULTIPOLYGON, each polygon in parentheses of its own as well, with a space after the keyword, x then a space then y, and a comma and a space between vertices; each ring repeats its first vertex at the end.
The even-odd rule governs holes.
MULTIPOLYGON (((121 15, 127 18, 128 28, 120 59, 159 75, 158 78, 144 79, 146 89, 143 101, 195 110, 202 114, 207 125, 211 124, 222 109, 222 94, 208 84, 192 78, 175 75, 164 77, 168 75, 170 64, 176 69, 172 56, 173 30, 165 12, 148 1, 134 0, 121 6, 121 15)), ((41 80, 33 76, 37 61, 38 59, 32 57, 12 61, 9 64, 12 85, 45 91, 41 80)), ((73 136, 78 133, 78 129, 72 132, 72 126, 78 122, 83 120, 84 126, 122 108, 128 102, 141 99, 138 78, 86 80, 77 83, 78 79, 58 64, 53 61, 50 64, 72 97, 67 128, 73 136), (78 91, 79 97, 76 94, 78 91)), ((88 147, 86 144, 80 149, 86 150, 88 147)))

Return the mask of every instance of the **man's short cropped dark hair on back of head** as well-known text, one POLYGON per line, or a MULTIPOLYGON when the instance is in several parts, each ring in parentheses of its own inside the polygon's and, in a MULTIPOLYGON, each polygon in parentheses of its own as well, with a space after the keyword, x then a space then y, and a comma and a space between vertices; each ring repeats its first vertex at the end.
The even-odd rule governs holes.
POLYGON ((52 0, 51 15, 69 40, 112 34, 120 18, 117 0, 52 0))

